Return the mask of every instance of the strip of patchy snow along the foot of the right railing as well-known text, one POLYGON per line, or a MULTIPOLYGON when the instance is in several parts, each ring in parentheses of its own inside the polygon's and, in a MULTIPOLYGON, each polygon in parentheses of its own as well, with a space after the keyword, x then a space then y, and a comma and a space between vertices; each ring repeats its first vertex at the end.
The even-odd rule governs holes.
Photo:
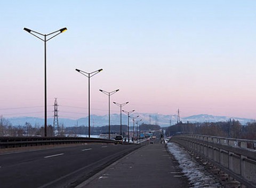
POLYGON ((178 144, 167 143, 167 148, 179 162, 182 172, 188 177, 191 184, 190 188, 223 187, 213 175, 208 173, 202 165, 190 156, 188 151, 178 144))

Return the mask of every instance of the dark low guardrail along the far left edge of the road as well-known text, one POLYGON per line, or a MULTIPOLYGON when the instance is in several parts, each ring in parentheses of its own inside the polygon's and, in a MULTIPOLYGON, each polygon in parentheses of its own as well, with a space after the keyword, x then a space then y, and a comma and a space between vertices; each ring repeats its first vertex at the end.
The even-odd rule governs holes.
POLYGON ((0 137, 0 149, 72 143, 115 143, 113 140, 85 137, 0 137))

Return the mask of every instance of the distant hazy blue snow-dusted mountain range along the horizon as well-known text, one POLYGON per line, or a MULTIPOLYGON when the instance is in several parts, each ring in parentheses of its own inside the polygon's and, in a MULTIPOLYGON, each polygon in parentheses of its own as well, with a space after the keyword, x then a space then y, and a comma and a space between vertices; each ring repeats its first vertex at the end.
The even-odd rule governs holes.
MULTIPOLYGON (((177 123, 177 115, 160 115, 158 113, 134 113, 131 115, 129 124, 132 126, 133 117, 135 118, 135 122, 138 120, 140 123, 144 122, 145 124, 156 124, 161 127, 166 127, 170 125, 174 125, 177 123)), ((29 122, 31 125, 39 124, 44 125, 44 118, 36 118, 36 117, 12 117, 7 118, 12 125, 24 125, 25 122, 29 122)), ((188 117, 181 117, 180 120, 182 122, 218 122, 218 121, 228 121, 229 119, 235 119, 241 122, 242 125, 245 125, 246 122, 252 122, 253 119, 246 118, 236 118, 236 117, 227 117, 227 116, 212 116, 212 115, 194 115, 188 117)), ((47 119, 47 124, 53 125, 53 118, 47 119)), ((67 127, 70 126, 87 126, 88 125, 88 117, 79 118, 79 119, 67 119, 67 118, 59 118, 59 124, 64 124, 67 127)), ((122 124, 127 125, 127 115, 122 115, 122 124)), ((91 126, 104 126, 108 125, 108 115, 105 116, 97 116, 91 115, 91 126)), ((120 125, 120 115, 119 114, 111 114, 110 115, 110 125, 120 125)))

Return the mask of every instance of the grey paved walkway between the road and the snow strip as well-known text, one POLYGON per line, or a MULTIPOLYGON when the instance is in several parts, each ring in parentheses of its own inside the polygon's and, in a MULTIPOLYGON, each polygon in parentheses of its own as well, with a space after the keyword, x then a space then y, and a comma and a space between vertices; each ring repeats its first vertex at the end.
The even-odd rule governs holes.
POLYGON ((135 150, 76 188, 189 187, 182 175, 165 145, 154 143, 135 150))

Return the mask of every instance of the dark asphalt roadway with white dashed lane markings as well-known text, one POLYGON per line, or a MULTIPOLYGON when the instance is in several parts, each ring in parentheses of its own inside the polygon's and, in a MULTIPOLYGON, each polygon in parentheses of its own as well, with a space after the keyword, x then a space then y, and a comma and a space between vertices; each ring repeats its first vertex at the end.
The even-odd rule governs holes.
POLYGON ((0 187, 74 187, 137 145, 87 144, 0 155, 0 187))

